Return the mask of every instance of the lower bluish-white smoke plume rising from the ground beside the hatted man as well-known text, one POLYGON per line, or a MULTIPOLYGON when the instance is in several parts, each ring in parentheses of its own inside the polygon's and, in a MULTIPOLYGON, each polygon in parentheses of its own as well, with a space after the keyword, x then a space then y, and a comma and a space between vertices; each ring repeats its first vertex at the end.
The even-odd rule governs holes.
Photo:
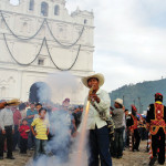
POLYGON ((50 117, 52 139, 48 142, 46 155, 27 166, 86 166, 87 148, 79 151, 80 137, 71 137, 71 118, 66 111, 53 112, 50 117))

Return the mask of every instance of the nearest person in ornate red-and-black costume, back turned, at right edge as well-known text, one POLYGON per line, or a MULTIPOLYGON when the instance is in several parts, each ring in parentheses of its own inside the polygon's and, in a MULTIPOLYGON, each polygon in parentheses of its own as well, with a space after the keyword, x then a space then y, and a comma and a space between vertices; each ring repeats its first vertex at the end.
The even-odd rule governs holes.
POLYGON ((149 166, 153 166, 157 159, 157 148, 159 148, 158 164, 164 165, 166 106, 163 105, 163 95, 160 93, 155 94, 155 103, 148 106, 146 122, 152 139, 152 146, 149 148, 149 151, 152 151, 149 166))

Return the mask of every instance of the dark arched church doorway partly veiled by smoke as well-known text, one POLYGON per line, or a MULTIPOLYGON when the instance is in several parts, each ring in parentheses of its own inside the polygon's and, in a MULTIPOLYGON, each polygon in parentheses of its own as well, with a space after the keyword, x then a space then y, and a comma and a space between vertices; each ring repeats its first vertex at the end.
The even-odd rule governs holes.
POLYGON ((48 103, 51 98, 51 91, 46 83, 35 82, 30 87, 29 101, 35 103, 48 103))

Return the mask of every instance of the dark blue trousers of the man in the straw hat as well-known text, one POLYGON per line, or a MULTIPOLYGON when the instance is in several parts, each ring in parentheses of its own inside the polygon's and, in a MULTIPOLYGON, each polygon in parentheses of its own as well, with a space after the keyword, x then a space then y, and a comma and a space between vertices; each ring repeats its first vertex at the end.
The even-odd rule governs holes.
POLYGON ((101 166, 112 166, 112 158, 108 152, 110 138, 107 126, 90 129, 89 144, 89 166, 98 166, 98 155, 101 158, 101 166))

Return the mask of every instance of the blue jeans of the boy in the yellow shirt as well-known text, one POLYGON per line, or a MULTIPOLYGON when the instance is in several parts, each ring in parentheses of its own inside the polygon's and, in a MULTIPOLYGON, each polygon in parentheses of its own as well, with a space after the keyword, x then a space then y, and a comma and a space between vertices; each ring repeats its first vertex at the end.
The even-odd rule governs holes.
POLYGON ((46 139, 35 138, 35 149, 34 149, 34 160, 40 157, 40 155, 45 155, 46 139))

